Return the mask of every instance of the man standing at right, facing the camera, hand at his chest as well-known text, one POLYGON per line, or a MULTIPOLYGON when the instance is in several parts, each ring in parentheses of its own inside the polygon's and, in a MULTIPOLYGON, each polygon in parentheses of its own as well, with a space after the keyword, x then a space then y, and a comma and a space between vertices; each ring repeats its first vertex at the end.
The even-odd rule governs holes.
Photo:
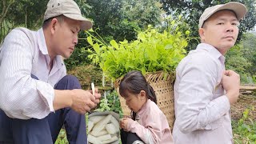
POLYGON ((240 78, 225 70, 224 55, 234 46, 246 11, 241 3, 229 2, 201 15, 201 43, 176 69, 174 143, 233 143, 230 104, 238 99, 240 78))

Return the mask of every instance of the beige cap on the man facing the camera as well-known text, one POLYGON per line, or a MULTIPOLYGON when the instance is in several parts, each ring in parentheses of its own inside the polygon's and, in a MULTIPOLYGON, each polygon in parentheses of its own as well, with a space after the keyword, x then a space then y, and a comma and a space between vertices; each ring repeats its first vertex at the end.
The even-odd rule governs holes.
POLYGON ((198 27, 202 28, 202 25, 211 15, 218 12, 218 10, 233 10, 236 14, 238 21, 241 20, 247 13, 246 6, 239 2, 228 2, 222 5, 216 5, 208 7, 201 15, 199 19, 198 27))

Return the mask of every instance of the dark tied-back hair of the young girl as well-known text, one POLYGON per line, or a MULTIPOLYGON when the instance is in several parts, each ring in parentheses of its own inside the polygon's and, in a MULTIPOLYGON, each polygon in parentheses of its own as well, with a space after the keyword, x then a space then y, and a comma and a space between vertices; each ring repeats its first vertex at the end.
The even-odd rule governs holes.
POLYGON ((157 98, 154 94, 154 89, 148 82, 146 82, 146 78, 140 71, 130 71, 124 76, 124 78, 122 78, 119 85, 119 93, 123 98, 128 97, 128 92, 131 94, 139 94, 141 90, 146 92, 146 98, 157 104, 157 98))

